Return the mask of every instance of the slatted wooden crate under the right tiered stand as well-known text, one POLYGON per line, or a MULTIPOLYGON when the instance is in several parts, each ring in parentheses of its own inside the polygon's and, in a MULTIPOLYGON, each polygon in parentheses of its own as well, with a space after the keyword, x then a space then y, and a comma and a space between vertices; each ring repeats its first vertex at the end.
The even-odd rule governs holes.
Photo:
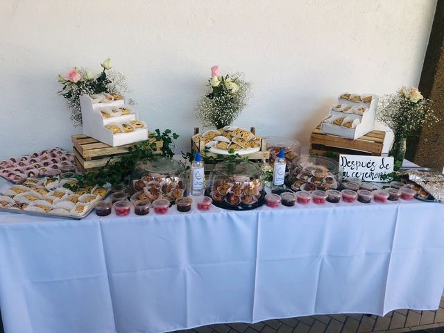
POLYGON ((359 139, 345 139, 321 133, 321 125, 319 125, 311 133, 309 154, 325 156, 328 153, 340 153, 380 156, 385 137, 384 131, 373 130, 359 139))

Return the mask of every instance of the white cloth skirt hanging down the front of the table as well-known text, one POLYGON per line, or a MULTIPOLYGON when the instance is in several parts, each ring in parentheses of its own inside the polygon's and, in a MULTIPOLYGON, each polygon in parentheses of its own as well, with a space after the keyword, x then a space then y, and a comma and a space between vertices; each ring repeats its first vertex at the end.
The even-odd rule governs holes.
POLYGON ((212 207, 83 221, 0 214, 6 333, 167 332, 436 309, 444 205, 212 207))

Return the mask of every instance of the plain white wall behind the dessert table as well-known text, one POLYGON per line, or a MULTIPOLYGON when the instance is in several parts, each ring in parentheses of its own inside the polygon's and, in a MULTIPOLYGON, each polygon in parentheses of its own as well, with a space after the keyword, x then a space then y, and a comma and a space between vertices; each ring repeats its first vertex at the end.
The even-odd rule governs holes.
POLYGON ((243 71, 253 98, 237 121, 307 146, 341 92, 418 85, 436 0, 1 0, 0 159, 71 148, 57 74, 112 58, 150 128, 189 150, 210 67, 243 71))

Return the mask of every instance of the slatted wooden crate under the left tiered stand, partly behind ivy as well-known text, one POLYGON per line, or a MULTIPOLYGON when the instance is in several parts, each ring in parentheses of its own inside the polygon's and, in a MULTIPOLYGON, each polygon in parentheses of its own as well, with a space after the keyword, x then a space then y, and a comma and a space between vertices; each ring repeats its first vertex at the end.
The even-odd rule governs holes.
MULTIPOLYGON (((161 153, 163 142, 156 142, 155 137, 148 137, 155 142, 154 153, 161 153)), ((96 171, 103 167, 112 157, 112 161, 119 160, 123 155, 129 154, 129 148, 135 144, 112 147, 87 135, 77 134, 71 136, 73 151, 78 171, 86 173, 96 171)))

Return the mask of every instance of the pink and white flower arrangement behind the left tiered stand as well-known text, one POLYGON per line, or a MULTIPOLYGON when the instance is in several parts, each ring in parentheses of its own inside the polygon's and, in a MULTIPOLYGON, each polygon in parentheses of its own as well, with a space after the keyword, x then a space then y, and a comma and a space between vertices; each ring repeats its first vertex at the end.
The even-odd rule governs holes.
MULTIPOLYGON (((74 126, 82 126, 82 111, 80 110, 80 96, 82 94, 101 93, 130 93, 126 85, 126 77, 118 71, 110 71, 111 59, 108 58, 101 63, 103 70, 96 75, 88 69, 74 67, 65 76, 59 74, 58 83, 62 84, 59 95, 67 99, 67 107, 71 110, 71 121, 74 126)), ((135 101, 128 100, 128 104, 135 101)))

